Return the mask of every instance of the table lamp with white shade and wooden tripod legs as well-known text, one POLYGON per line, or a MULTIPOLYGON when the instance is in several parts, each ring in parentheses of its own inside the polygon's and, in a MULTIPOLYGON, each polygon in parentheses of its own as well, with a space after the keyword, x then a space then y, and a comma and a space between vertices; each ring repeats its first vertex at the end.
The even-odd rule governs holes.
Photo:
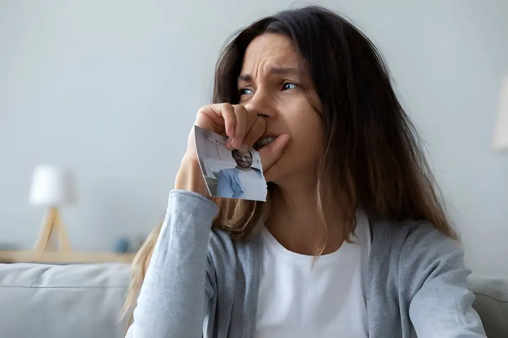
POLYGON ((47 249, 53 231, 57 233, 60 251, 71 251, 65 224, 61 221, 58 208, 75 201, 74 177, 71 173, 50 165, 39 165, 34 170, 30 187, 30 202, 47 208, 34 250, 47 249))

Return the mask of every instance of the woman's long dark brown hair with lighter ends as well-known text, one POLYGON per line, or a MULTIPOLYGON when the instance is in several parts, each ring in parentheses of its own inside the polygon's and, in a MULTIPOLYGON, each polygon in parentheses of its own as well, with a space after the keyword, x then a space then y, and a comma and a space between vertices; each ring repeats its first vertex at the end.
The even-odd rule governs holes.
MULTIPOLYGON (((280 12, 239 31, 216 66, 214 103, 239 102, 237 77, 249 43, 265 33, 288 37, 299 52, 320 99, 324 144, 316 173, 316 207, 326 244, 324 206, 337 199, 343 238, 361 207, 388 220, 425 220, 457 239, 435 187, 415 126, 401 107, 379 51, 353 24, 322 7, 280 12)), ((269 186, 270 191, 270 186, 269 186)), ((214 198, 219 211, 211 226, 234 240, 248 240, 269 212, 267 202, 214 198)), ((148 236, 133 262, 124 306, 136 303, 162 224, 148 236)), ((129 323, 132 322, 132 315, 129 323)))

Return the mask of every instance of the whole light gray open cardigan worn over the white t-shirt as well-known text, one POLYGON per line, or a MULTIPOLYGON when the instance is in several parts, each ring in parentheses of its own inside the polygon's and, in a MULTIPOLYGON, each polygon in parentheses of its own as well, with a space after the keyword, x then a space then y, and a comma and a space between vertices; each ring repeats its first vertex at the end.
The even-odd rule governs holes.
MULTIPOLYGON (((217 206, 172 190, 128 338, 250 338, 256 327, 259 236, 210 231, 217 206)), ((485 337, 458 244, 431 225, 372 222, 369 337, 485 337)))

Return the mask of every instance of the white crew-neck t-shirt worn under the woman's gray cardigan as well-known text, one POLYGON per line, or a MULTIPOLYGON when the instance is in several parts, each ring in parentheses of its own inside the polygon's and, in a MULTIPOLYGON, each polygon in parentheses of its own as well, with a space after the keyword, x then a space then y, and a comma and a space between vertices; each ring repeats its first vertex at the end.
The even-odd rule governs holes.
POLYGON ((368 337, 365 286, 370 253, 366 215, 356 213, 355 243, 313 256, 291 252, 263 227, 255 338, 368 337))

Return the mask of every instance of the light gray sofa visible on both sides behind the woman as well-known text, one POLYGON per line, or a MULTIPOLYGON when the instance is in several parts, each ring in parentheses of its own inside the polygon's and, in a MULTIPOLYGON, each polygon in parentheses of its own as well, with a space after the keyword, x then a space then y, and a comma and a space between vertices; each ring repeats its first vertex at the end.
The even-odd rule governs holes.
MULTIPOLYGON (((121 338, 130 277, 126 264, 0 264, 0 338, 121 338)), ((508 337, 508 280, 471 277, 469 288, 487 336, 508 337)))

